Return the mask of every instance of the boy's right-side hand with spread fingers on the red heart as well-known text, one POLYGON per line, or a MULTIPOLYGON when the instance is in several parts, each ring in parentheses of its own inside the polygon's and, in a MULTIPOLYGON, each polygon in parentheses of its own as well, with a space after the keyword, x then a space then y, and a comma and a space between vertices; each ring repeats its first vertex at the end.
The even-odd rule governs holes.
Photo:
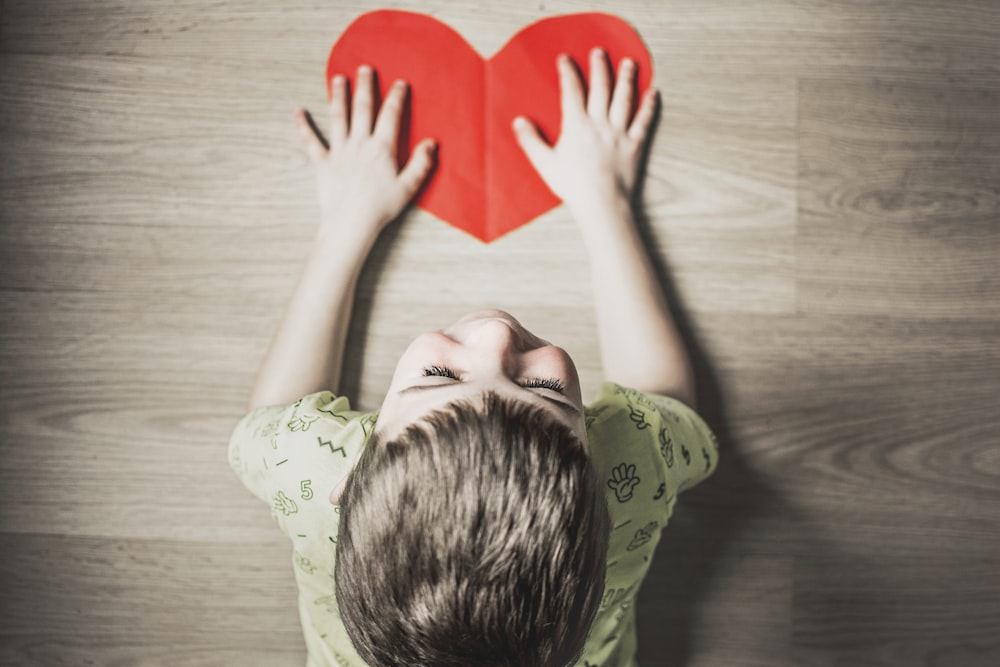
MULTIPOLYGON (((560 55, 562 128, 549 146, 528 119, 514 119, 517 141, 539 176, 574 213, 631 202, 643 149, 656 112, 656 92, 646 91, 632 117, 636 65, 622 60, 611 86, 607 55, 590 53, 590 92, 569 56, 560 55)), ((577 216, 579 219, 579 216, 577 216)))

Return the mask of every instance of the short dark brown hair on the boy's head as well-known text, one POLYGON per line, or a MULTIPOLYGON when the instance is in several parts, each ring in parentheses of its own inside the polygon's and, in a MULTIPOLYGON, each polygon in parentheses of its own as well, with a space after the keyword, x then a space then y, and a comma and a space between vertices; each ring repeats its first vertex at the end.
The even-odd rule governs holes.
POLYGON ((337 602, 373 666, 562 667, 604 590, 608 509, 586 447, 493 393, 368 443, 344 490, 337 602))

